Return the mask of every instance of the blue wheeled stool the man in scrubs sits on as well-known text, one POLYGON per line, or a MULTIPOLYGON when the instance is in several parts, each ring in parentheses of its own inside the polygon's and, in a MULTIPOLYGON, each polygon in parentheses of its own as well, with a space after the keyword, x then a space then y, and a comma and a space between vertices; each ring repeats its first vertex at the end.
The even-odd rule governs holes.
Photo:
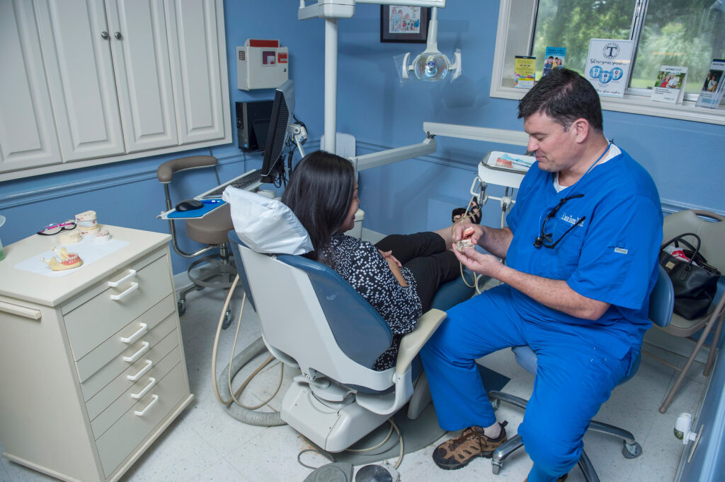
MULTIPOLYGON (((672 318, 674 301, 675 297, 672 283, 670 282, 667 272, 660 266, 657 282, 653 288, 652 295, 650 295, 650 321, 652 321, 656 326, 667 326, 672 318)), ((534 350, 531 350, 528 346, 513 347, 512 350, 516 357, 516 362, 523 368, 526 368, 526 371, 529 371, 529 373, 536 376, 537 355, 534 353, 534 350)), ((637 357, 637 360, 634 360, 629 375, 620 381, 620 384, 623 384, 625 381, 631 379, 631 377, 637 373, 640 360, 640 357, 637 357)), ((500 402, 507 402, 511 405, 515 405, 516 407, 526 409, 525 399, 515 397, 504 392, 489 392, 489 399, 491 399, 494 409, 498 408, 500 402)), ((624 443, 624 447, 622 447, 622 454, 628 459, 639 457, 639 455, 642 454, 642 446, 634 440, 634 435, 632 435, 631 432, 624 430, 624 428, 592 420, 589 423, 589 430, 621 437, 624 443)), ((491 458, 493 473, 499 473, 506 457, 522 446, 523 442, 521 441, 521 436, 516 434, 498 447, 491 458)), ((599 481, 597 472, 592 465, 592 462, 589 460, 587 452, 584 450, 581 451, 581 457, 579 458, 579 469, 581 469, 581 473, 584 475, 585 480, 589 482, 599 481)))

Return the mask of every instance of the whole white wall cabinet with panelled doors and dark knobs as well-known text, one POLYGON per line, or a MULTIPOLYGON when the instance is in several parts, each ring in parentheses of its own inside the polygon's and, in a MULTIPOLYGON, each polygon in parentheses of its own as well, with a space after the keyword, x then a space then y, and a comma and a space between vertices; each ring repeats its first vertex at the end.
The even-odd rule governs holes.
POLYGON ((222 0, 0 2, 5 179, 231 142, 222 0))

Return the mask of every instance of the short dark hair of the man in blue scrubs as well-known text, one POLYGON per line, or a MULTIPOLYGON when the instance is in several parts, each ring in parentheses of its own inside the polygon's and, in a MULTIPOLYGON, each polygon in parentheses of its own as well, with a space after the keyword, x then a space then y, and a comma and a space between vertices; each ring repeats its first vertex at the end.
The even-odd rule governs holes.
POLYGON ((518 103, 518 118, 546 114, 567 130, 576 119, 587 119, 602 132, 599 94, 589 80, 569 69, 554 69, 542 77, 518 103))

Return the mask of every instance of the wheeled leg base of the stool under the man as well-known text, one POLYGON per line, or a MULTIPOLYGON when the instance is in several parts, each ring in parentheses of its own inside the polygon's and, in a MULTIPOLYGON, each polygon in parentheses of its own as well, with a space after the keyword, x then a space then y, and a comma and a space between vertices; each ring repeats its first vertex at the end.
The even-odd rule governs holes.
MULTIPOLYGON (((504 392, 491 391, 489 392, 489 399, 491 399, 494 410, 498 409, 500 402, 507 402, 510 405, 514 405, 515 407, 526 410, 527 400, 521 397, 516 397, 515 395, 504 392)), ((624 430, 624 428, 619 428, 608 423, 592 420, 589 423, 589 430, 620 437, 623 444, 622 455, 626 459, 634 459, 642 455, 642 446, 634 440, 634 435, 632 435, 631 432, 624 430)), ((515 452, 516 449, 519 449, 522 446, 523 441, 521 441, 521 436, 516 434, 515 436, 508 439, 508 441, 505 441, 505 443, 502 444, 500 447, 498 447, 491 457, 492 472, 494 474, 498 474, 503 466, 503 461, 506 460, 506 458, 510 454, 515 452)), ((581 451, 581 457, 579 458, 579 462, 577 462, 577 465, 579 465, 579 470, 581 470, 581 474, 584 475, 584 480, 588 482, 599 482, 600 479, 597 475, 597 471, 595 470, 594 465, 592 465, 592 462, 589 460, 587 452, 585 452, 584 450, 581 451)))

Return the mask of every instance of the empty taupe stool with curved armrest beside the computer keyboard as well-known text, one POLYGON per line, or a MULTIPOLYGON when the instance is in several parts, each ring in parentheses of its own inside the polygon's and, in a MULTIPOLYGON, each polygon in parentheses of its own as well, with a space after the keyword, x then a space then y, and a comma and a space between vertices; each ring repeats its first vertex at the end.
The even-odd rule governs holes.
MULTIPOLYGON (((169 184, 177 172, 186 171, 188 169, 199 169, 203 167, 211 167, 217 164, 217 158, 213 156, 191 156, 173 159, 161 164, 157 169, 157 177, 159 182, 164 185, 164 193, 166 195, 166 211, 173 208, 171 195, 169 193, 169 184)), ((210 253, 212 250, 218 250, 218 253, 199 258, 188 267, 188 278, 191 280, 191 286, 182 289, 179 292, 177 302, 179 316, 186 312, 186 295, 195 289, 204 288, 223 288, 231 287, 232 280, 236 276, 236 269, 232 263, 227 240, 227 232, 233 229, 229 206, 225 205, 215 209, 203 218, 186 220, 186 236, 191 240, 207 245, 205 248, 186 253, 179 248, 178 235, 173 219, 169 219, 169 227, 171 232, 172 245, 176 253, 184 258, 196 258, 204 253, 210 253), (192 270, 202 263, 208 263, 209 266, 203 266, 198 276, 192 274, 192 270), (217 279, 218 278, 218 279, 217 279), (217 279, 217 280, 215 280, 217 279)), ((225 326, 231 322, 231 310, 226 313, 225 326)))

